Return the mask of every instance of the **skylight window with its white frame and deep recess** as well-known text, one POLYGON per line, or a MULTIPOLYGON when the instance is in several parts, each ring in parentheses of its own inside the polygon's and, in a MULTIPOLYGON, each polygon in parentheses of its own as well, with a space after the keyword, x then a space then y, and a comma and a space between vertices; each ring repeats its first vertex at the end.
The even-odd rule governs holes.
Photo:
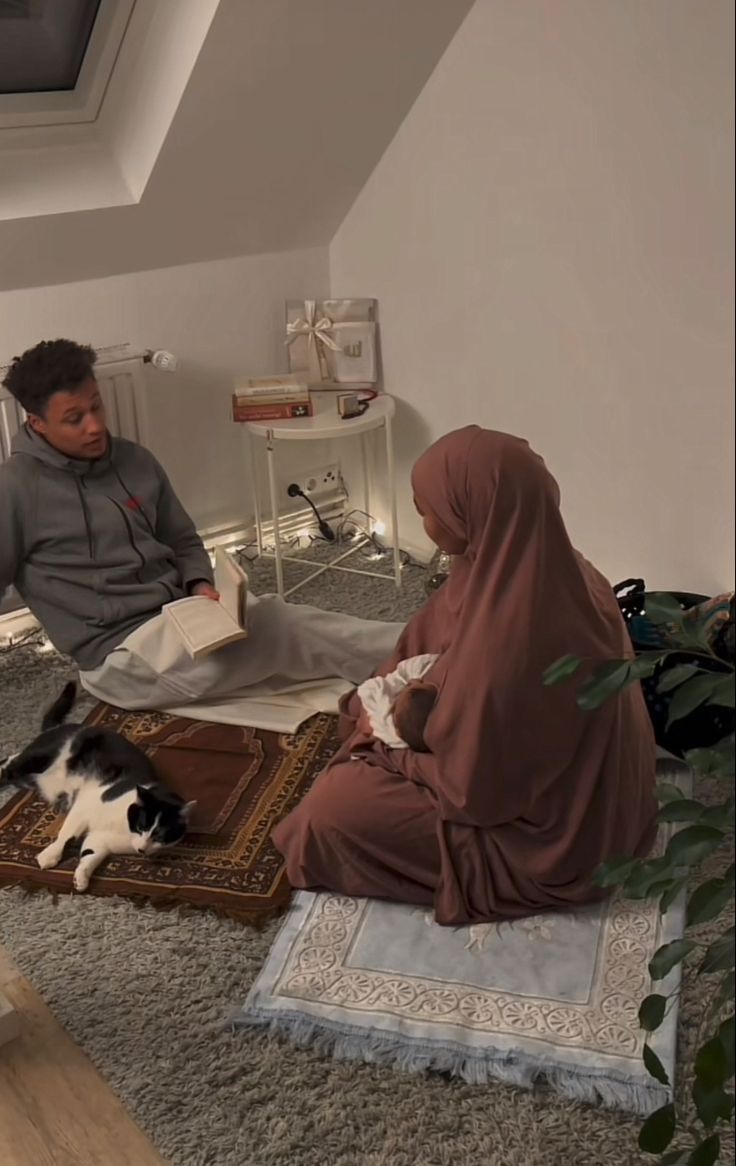
POLYGON ((0 224, 140 202, 218 5, 0 0, 0 224), (14 71, 2 92, 19 59, 10 41, 59 13, 65 76, 14 71), (62 83, 73 85, 17 90, 62 83))

